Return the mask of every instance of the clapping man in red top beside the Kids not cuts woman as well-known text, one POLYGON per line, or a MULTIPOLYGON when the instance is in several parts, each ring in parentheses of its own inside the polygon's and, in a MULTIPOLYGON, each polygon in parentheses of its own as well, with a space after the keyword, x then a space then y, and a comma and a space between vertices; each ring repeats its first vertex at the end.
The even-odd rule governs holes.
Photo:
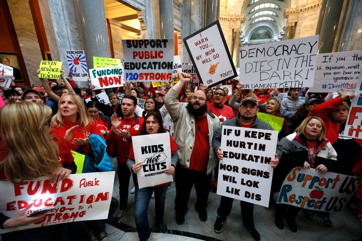
MULTIPOLYGON (((124 117, 118 118, 117 114, 111 117, 112 128, 107 136, 108 146, 114 145, 117 150, 118 180, 120 189, 120 210, 116 215, 118 223, 123 217, 128 202, 128 186, 131 172, 127 167, 127 159, 132 145, 132 136, 138 135, 143 118, 134 113, 137 105, 137 98, 132 95, 125 95, 122 99, 121 109, 124 117)), ((112 148, 110 148, 112 149, 112 148)))

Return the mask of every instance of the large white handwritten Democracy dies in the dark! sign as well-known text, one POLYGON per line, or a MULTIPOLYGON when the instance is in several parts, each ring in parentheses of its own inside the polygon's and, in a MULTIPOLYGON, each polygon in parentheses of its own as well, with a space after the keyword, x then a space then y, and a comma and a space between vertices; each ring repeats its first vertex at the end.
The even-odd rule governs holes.
POLYGON ((313 86, 318 35, 240 48, 244 89, 313 86))

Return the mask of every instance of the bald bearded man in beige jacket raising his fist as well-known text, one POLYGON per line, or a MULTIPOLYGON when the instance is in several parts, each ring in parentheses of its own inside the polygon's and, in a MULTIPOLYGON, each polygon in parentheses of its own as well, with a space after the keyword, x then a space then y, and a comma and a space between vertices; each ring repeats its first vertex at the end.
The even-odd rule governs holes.
POLYGON ((178 93, 191 75, 182 73, 180 80, 167 92, 164 104, 173 120, 173 139, 177 145, 178 163, 175 171, 176 223, 185 222, 188 201, 195 184, 195 209, 201 221, 207 220, 207 200, 212 171, 217 158, 212 148, 212 137, 220 127, 217 116, 207 110, 206 94, 197 90, 187 107, 177 101, 178 93))

